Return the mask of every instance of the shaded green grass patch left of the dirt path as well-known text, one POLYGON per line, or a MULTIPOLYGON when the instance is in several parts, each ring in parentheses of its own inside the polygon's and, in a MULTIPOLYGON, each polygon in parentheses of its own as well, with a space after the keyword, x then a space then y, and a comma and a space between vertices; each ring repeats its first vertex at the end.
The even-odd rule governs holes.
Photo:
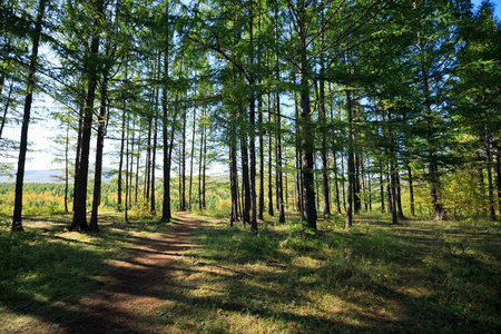
MULTIPOLYGON (((0 223, 0 332, 37 333, 40 325, 78 318, 80 298, 95 292, 138 243, 135 236, 165 230, 146 219, 122 224, 116 213, 100 216, 99 233, 65 229, 71 215, 26 216, 26 233, 11 233, 10 219, 0 223)), ((41 331, 41 330, 40 330, 41 331)), ((47 331, 47 330, 45 330, 47 331)))

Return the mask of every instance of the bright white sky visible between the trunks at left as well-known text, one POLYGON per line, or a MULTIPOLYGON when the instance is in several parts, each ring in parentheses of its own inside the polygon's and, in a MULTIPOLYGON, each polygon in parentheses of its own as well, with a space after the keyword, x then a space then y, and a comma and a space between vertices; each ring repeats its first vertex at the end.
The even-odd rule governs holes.
MULTIPOLYGON (((482 0, 472 0, 472 3, 475 7, 479 7, 481 2, 482 0)), ((494 3, 495 6, 495 16, 498 17, 498 19, 500 19, 501 0, 493 0, 492 3, 494 3)), ((52 163, 52 160, 55 159, 53 151, 56 149, 53 146, 53 138, 58 132, 62 131, 56 121, 46 116, 50 108, 53 108, 53 105, 50 101, 37 102, 35 105, 32 115, 38 119, 30 124, 30 128, 28 131, 28 141, 31 144, 31 151, 29 151, 27 155, 27 170, 47 170, 62 168, 62 166, 52 163)), ((9 125, 4 129, 4 134, 2 136, 4 136, 4 138, 10 138, 19 141, 20 125, 9 125)), ((92 143, 94 141, 95 138, 92 138, 92 143)), ((105 151, 107 150, 106 145, 107 144, 105 143, 105 151)), ((2 159, 0 160, 0 163, 7 163, 6 159, 2 159)), ((17 156, 10 161, 17 164, 17 156)), ((107 157, 105 157, 105 165, 109 166, 109 158, 107 157)))

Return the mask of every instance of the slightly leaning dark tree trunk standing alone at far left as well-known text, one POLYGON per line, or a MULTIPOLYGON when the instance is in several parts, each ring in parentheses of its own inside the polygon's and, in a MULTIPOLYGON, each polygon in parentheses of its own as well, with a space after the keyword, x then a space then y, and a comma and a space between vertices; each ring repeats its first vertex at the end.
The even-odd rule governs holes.
POLYGON ((42 30, 42 20, 46 11, 47 0, 40 0, 38 6, 37 22, 35 24, 33 47, 30 56, 30 67, 28 72, 24 110, 22 114, 21 143, 19 147, 18 173, 16 175, 14 209, 12 217, 12 230, 22 232, 22 185, 24 183, 26 154, 28 150, 28 127, 30 124, 31 102, 33 100, 35 73, 37 72, 38 47, 42 30))

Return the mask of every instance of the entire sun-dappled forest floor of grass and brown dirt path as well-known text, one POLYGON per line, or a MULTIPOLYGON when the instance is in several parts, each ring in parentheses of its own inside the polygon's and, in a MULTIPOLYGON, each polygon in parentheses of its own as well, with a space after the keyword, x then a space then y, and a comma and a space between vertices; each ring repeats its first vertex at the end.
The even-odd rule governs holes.
MULTIPOLYGON (((0 229, 0 333, 499 333, 499 223, 342 217, 0 229)), ((7 226, 7 223, 6 223, 7 226)))

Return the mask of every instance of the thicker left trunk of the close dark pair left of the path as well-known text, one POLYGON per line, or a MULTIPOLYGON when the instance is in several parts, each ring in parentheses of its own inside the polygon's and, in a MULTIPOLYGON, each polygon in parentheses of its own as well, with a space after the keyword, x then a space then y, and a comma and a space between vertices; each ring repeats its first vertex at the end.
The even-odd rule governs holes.
MULTIPOLYGON (((99 27, 104 20, 104 0, 96 1, 96 16, 94 26, 99 27)), ((99 53, 100 43, 100 32, 96 29, 92 32, 92 40, 90 42, 90 58, 96 57, 99 53)), ((89 73, 89 79, 87 82, 87 98, 86 108, 84 110, 84 128, 81 136, 81 154, 80 154, 80 167, 78 169, 78 188, 76 191, 76 206, 73 213, 73 220, 71 223, 70 229, 87 229, 87 177, 89 174, 89 154, 90 154, 90 136, 92 131, 92 109, 94 100, 96 97, 96 86, 97 86, 97 69, 98 65, 92 65, 94 70, 89 73)))

